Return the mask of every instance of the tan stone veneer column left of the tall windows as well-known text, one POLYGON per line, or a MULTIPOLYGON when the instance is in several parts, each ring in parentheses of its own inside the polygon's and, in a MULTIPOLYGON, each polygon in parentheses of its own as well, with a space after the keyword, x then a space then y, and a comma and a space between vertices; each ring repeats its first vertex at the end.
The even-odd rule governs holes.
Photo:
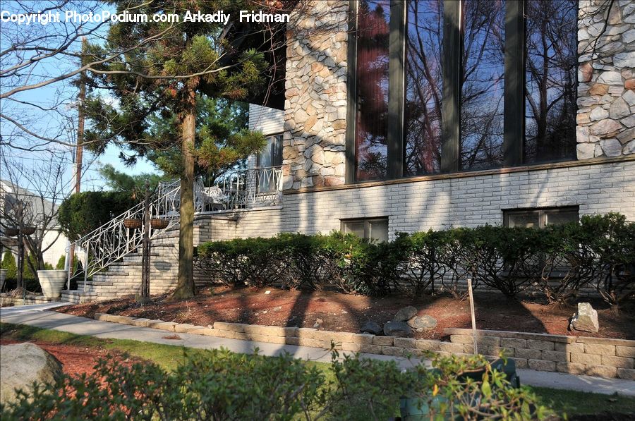
POLYGON ((284 190, 344 183, 348 11, 348 0, 313 0, 291 15, 284 190))

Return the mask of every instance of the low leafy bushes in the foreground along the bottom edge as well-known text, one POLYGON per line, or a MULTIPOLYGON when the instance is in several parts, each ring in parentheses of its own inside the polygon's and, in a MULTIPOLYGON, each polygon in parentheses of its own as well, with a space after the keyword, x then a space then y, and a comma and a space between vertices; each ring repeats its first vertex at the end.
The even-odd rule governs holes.
POLYGON ((90 375, 63 374, 20 392, 0 407, 3 420, 386 420, 401 396, 447 397, 444 412, 466 419, 532 420, 545 410, 514 389, 484 358, 435 358, 435 372, 402 372, 394 361, 346 356, 325 370, 284 354, 210 350, 174 372, 153 363, 100 360, 90 375), (483 380, 457 380, 461 370, 485 370, 483 380), (475 393, 479 398, 474 399, 475 393))

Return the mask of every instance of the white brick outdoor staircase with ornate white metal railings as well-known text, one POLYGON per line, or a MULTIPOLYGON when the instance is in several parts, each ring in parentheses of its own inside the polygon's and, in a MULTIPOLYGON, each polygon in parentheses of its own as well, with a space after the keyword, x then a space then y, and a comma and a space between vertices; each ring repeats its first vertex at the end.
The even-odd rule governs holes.
MULTIPOLYGON (((230 173, 206 187, 195 181, 195 212, 226 213, 279 204, 282 169, 270 167, 230 173)), ((151 219, 167 221, 165 228, 150 228, 150 293, 163 293, 176 286, 178 272, 179 181, 159 183, 148 212, 151 219)), ((81 265, 69 271, 61 300, 86 303, 138 295, 141 290, 141 250, 145 227, 126 228, 127 219, 143 220, 144 205, 137 205, 73 243, 81 265), (77 289, 71 289, 76 283, 77 289)))

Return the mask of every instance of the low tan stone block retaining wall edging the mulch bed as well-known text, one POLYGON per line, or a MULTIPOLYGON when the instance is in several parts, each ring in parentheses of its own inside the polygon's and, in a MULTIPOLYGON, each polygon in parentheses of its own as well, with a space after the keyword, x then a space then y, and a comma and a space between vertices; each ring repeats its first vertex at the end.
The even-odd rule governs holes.
MULTIPOLYGON (((439 355, 473 353, 473 337, 470 329, 446 329, 445 333, 451 336, 450 342, 444 342, 432 339, 323 331, 307 327, 260 326, 226 322, 214 322, 213 325, 202 327, 104 313, 96 313, 95 319, 176 333, 281 345, 329 349, 333 341, 337 350, 396 357, 420 357, 426 351, 439 355)), ((479 353, 495 357, 502 352, 513 359, 519 368, 635 380, 635 341, 508 331, 478 331, 477 341, 479 353)))

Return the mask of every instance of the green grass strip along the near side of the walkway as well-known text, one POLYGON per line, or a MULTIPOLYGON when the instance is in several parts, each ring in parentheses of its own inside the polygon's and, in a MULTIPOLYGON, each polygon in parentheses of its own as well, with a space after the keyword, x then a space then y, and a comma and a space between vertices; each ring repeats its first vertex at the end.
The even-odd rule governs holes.
MULTIPOLYGON (((187 355, 205 353, 205 350, 184 348, 183 346, 162 345, 128 339, 94 338, 92 336, 40 329, 23 324, 0 323, 0 336, 14 341, 40 341, 86 348, 117 350, 143 360, 155 362, 166 370, 174 370, 178 365, 186 361, 187 355)), ((307 364, 315 365, 315 367, 324 372, 326 377, 332 377, 333 375, 332 371, 328 370, 329 364, 312 361, 307 362, 307 364)), ((530 387, 530 389, 536 393, 542 405, 552 408, 557 414, 635 413, 635 397, 567 391, 546 387, 530 387)))

